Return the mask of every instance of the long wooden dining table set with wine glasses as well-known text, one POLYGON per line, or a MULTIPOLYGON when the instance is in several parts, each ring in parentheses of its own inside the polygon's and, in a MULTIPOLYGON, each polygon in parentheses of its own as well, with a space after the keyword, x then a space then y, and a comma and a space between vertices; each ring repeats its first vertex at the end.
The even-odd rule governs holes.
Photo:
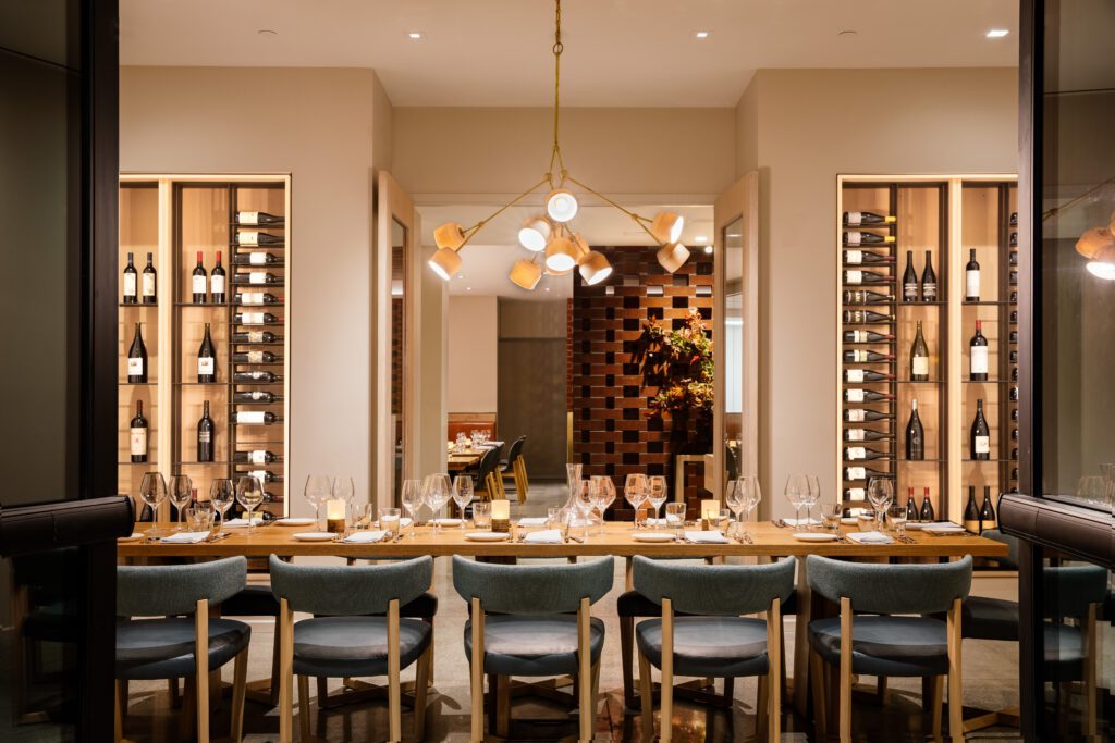
MULTIPOLYGON (((148 525, 137 525, 144 527, 148 525)), ((159 524, 157 528, 166 532, 173 524, 159 524)), ((1004 557, 1007 546, 973 534, 930 535, 920 530, 908 530, 909 541, 891 544, 860 544, 843 538, 840 541, 805 541, 794 537, 795 528, 776 526, 769 521, 747 524, 749 540, 729 539, 726 544, 694 544, 685 540, 644 542, 637 541, 637 534, 630 522, 610 521, 602 534, 589 536, 584 541, 569 540, 561 544, 532 544, 508 538, 505 541, 473 541, 466 537, 474 529, 444 528, 434 534, 432 527, 420 526, 410 536, 409 527, 400 538, 388 542, 350 544, 346 541, 302 541, 294 537, 306 527, 291 528, 271 522, 256 527, 254 532, 230 529, 231 536, 216 541, 197 544, 166 544, 158 540, 122 540, 117 545, 117 556, 122 559, 145 558, 216 558, 230 556, 266 557, 277 555, 284 558, 297 557, 447 557, 460 555, 476 558, 518 557, 599 557, 613 556, 627 560, 627 587, 631 587, 631 561, 636 555, 672 558, 723 558, 723 557, 804 557, 824 555, 853 559, 888 560, 904 559, 958 559, 964 555, 973 557, 1004 557)), ((525 531, 525 530, 524 530, 525 531)), ((842 527, 842 537, 856 531, 855 527, 842 527)), ((680 534, 680 532, 679 532, 680 534)), ((806 713, 809 687, 807 625, 815 616, 814 602, 808 588, 805 560, 798 560, 797 570, 797 615, 794 633, 794 703, 799 714, 806 713)))

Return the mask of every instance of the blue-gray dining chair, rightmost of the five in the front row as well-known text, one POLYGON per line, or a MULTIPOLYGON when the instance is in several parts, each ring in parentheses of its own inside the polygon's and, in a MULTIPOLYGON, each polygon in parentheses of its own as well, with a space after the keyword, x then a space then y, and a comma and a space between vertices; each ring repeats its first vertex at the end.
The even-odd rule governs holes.
POLYGON ((972 558, 933 565, 845 563, 809 555, 809 588, 840 616, 809 623, 809 676, 817 737, 825 736, 825 665, 838 669, 840 740, 852 739, 852 675, 933 678, 933 737, 941 735, 942 681, 949 677, 949 734, 964 740, 960 673, 961 604, 972 558), (853 612, 856 613, 853 616, 853 612), (944 620, 923 615, 946 612, 944 620))

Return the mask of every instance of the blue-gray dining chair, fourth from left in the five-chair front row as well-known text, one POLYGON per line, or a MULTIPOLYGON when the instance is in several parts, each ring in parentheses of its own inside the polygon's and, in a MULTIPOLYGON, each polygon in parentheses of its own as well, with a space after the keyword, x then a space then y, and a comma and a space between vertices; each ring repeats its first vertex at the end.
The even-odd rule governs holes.
MULTIPOLYGON (((643 736, 655 730, 650 667, 662 674, 659 740, 671 737, 673 677, 759 677, 756 710, 766 737, 780 733, 782 603, 794 590, 793 557, 769 565, 679 565, 637 556, 634 589, 661 606, 661 618, 636 627, 643 736), (675 616, 675 612, 686 616, 675 616), (765 619, 744 614, 766 613, 765 619), (762 717, 760 717, 762 720, 762 717)), ((760 733, 760 736, 763 734, 760 733)))

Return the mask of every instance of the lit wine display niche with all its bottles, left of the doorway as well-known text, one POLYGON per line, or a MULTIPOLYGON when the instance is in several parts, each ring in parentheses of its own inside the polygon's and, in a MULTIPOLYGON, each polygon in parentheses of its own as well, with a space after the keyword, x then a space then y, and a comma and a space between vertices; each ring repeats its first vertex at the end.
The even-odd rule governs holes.
POLYGON ((117 480, 137 509, 143 475, 157 470, 188 475, 200 500, 214 479, 252 473, 260 510, 288 512, 290 185, 289 175, 120 176, 117 480), (142 364, 130 358, 137 326, 142 364), (129 377, 140 366, 145 380, 129 377), (146 434, 134 426, 139 405, 146 434), (142 451, 146 461, 133 461, 142 451))

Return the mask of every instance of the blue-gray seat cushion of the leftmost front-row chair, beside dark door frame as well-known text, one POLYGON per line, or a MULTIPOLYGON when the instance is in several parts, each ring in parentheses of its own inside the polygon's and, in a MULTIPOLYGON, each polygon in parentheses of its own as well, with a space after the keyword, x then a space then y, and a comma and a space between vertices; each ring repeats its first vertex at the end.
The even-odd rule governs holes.
MULTIPOLYGON (((215 671, 248 647, 252 628, 235 619, 210 619, 209 668, 215 671)), ((116 624, 116 677, 182 678, 196 671, 194 619, 126 619, 116 624)))

